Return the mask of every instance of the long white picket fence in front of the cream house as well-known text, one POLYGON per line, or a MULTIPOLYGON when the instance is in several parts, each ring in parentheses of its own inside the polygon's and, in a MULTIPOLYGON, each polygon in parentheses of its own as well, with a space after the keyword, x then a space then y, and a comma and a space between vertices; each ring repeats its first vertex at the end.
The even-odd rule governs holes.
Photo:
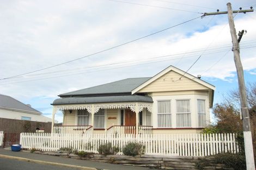
POLYGON ((235 134, 151 134, 108 135, 108 134, 47 134, 22 133, 22 148, 39 149, 44 152, 59 152, 60 148, 72 148, 97 153, 100 144, 111 142, 123 147, 129 142, 139 142, 145 146, 147 155, 209 156, 223 152, 239 152, 235 134))

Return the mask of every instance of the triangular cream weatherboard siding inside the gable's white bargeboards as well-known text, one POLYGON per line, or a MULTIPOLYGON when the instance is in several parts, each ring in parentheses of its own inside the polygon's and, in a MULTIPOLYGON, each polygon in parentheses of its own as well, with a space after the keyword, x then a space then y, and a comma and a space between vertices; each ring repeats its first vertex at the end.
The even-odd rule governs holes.
POLYGON ((209 90, 208 87, 203 86, 196 81, 182 77, 181 74, 170 71, 162 77, 156 79, 149 85, 145 86, 138 92, 163 92, 163 91, 184 91, 184 90, 209 90))

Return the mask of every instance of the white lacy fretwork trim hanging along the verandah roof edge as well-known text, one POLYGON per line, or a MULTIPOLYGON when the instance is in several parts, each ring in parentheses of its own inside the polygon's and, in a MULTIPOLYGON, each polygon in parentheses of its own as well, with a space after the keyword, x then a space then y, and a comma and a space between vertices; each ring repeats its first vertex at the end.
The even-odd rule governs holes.
POLYGON ((54 105, 56 110, 84 110, 87 109, 89 113, 96 113, 100 109, 131 109, 132 111, 142 111, 147 108, 149 112, 152 112, 152 103, 99 103, 99 104, 69 104, 69 105, 54 105))

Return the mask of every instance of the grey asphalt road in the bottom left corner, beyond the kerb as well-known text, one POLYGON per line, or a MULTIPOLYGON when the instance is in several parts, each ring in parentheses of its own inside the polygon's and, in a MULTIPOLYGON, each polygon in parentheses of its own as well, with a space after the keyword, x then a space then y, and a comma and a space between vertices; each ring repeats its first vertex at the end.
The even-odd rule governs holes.
POLYGON ((62 166, 42 165, 38 163, 18 161, 13 159, 0 158, 1 170, 77 170, 76 168, 67 168, 62 166))

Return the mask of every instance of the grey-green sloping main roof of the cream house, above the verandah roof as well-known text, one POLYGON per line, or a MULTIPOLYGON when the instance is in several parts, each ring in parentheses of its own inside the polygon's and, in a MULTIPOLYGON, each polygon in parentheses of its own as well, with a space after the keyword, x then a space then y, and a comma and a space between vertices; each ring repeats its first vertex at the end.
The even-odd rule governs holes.
POLYGON ((112 83, 102 84, 99 86, 89 87, 87 89, 72 91, 59 95, 60 97, 68 96, 89 96, 89 95, 104 95, 104 94, 114 94, 114 93, 129 93, 143 84, 145 81, 149 80, 151 77, 143 78, 129 78, 119 81, 114 81, 112 83))

